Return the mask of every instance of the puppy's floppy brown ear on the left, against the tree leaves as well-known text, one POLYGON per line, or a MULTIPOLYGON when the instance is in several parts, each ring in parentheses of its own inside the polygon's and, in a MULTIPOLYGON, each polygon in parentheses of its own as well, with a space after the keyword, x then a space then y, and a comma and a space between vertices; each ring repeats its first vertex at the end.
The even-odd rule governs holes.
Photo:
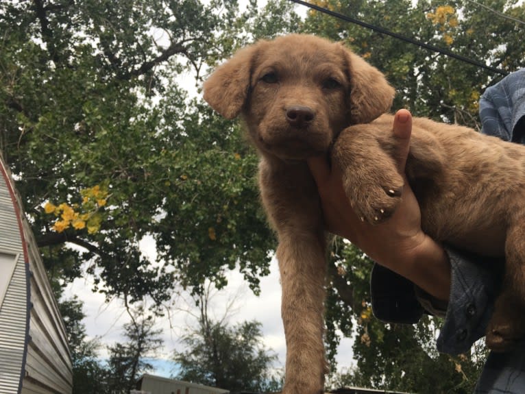
POLYGON ((204 100, 226 119, 234 119, 243 108, 258 47, 240 49, 204 82, 204 100))

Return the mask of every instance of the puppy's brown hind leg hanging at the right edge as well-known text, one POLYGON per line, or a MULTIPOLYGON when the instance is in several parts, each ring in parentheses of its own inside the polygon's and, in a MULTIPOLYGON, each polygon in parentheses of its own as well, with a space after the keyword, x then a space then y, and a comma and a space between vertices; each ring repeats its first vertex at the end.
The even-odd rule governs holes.
POLYGON ((525 217, 509 228, 505 244, 505 275, 502 291, 487 327, 487 346, 508 352, 525 336, 525 217), (521 223, 520 223, 521 222, 521 223))

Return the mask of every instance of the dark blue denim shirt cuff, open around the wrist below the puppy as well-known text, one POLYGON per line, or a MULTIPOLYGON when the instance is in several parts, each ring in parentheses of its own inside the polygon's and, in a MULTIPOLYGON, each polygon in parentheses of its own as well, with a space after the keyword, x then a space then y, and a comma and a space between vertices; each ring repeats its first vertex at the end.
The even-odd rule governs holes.
POLYGON ((496 297, 496 284, 504 264, 502 260, 469 255, 445 247, 450 259, 451 287, 448 304, 422 295, 401 275, 375 264, 370 289, 374 315, 389 323, 417 323, 424 313, 440 308, 445 315, 437 348, 448 354, 461 354, 485 335, 496 297), (433 308, 423 308, 433 304, 433 308))

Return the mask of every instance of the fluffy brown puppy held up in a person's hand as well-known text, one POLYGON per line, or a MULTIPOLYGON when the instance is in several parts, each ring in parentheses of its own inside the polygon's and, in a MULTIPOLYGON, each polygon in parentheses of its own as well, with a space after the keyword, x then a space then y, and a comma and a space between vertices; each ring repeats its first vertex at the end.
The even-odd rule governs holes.
MULTIPOLYGON (((343 47, 292 35, 242 49, 204 84, 221 115, 241 114, 260 153, 262 202, 278 233, 284 393, 323 389, 326 275, 319 196, 305 159, 332 149, 343 185, 363 220, 395 210, 403 180, 392 157, 394 90, 380 71, 343 47)), ((515 310, 525 300, 525 147, 456 125, 414 119, 408 182, 422 228, 436 241, 506 257, 504 292, 487 343, 504 350, 522 336, 515 310)))

